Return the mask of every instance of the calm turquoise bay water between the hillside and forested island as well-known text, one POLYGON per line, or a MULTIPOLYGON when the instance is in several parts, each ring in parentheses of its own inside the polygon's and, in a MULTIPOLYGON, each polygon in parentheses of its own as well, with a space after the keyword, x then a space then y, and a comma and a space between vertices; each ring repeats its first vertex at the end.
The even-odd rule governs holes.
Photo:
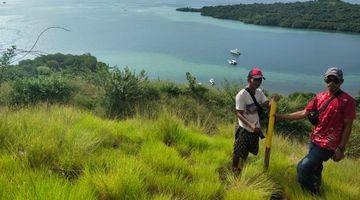
POLYGON ((259 66, 267 78, 263 87, 284 94, 323 90, 326 68, 341 66, 344 89, 358 94, 360 35, 246 25, 175 11, 234 2, 255 1, 8 1, 0 5, 0 48, 27 49, 44 28, 64 26, 71 31, 47 32, 36 50, 90 52, 112 66, 144 69, 154 79, 184 82, 189 71, 203 84, 210 78, 239 83, 259 66), (242 52, 238 66, 227 64, 233 48, 242 52))

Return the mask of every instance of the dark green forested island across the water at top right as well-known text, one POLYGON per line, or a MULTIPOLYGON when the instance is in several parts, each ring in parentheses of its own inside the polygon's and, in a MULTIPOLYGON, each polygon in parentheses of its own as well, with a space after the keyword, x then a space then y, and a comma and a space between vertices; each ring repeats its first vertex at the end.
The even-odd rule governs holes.
POLYGON ((247 24, 360 33, 360 5, 340 0, 178 8, 247 24))

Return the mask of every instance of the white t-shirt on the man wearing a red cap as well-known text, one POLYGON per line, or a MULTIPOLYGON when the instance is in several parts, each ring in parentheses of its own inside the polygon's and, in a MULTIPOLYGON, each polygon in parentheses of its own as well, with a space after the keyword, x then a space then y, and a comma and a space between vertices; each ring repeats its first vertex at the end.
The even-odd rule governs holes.
MULTIPOLYGON (((255 98, 259 104, 262 104, 266 101, 266 96, 262 92, 260 88, 255 90, 255 98)), ((250 122, 250 123, 256 123, 256 127, 260 128, 260 121, 259 121, 259 115, 257 113, 257 107, 254 103, 254 101, 251 98, 251 95, 248 91, 245 89, 240 90, 240 92, 237 93, 236 98, 236 110, 243 110, 244 111, 244 117, 250 122)), ((243 128, 245 128, 249 132, 253 132, 250 127, 246 126, 240 119, 239 125, 243 128)))

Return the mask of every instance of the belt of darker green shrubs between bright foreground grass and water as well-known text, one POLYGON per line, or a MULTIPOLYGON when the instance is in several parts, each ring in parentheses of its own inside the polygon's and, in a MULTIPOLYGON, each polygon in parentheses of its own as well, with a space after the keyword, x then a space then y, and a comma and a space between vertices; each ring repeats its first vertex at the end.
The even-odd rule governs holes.
MULTIPOLYGON (((102 117, 118 118, 135 114, 153 118, 165 109, 181 118, 186 125, 207 134, 217 134, 219 125, 236 122, 234 97, 243 87, 226 80, 219 88, 200 85, 190 73, 186 73, 186 84, 150 81, 145 72, 135 74, 128 68, 110 70, 89 54, 40 56, 2 68, 1 77, 1 105, 68 103, 102 117)), ((312 93, 283 96, 279 112, 302 110, 313 96, 312 93)), ((356 101, 359 112, 359 97, 356 101)), ((267 119, 263 119, 261 124, 264 128, 266 123, 267 119)), ((348 148, 349 155, 353 157, 360 155, 357 150, 359 138, 354 134, 359 132, 356 124, 357 121, 348 148)), ((311 132, 307 120, 280 121, 275 128, 279 133, 300 139, 307 139, 311 132)))

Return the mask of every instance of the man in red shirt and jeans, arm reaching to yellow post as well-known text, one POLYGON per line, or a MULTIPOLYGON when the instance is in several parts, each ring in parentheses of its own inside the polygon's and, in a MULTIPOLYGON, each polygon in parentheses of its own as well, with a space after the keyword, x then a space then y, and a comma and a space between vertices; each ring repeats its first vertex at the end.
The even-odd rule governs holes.
POLYGON ((356 117, 355 99, 340 90, 344 82, 342 70, 329 68, 324 81, 328 90, 317 94, 304 110, 276 114, 277 120, 297 120, 317 110, 318 123, 310 136, 309 153, 297 166, 300 185, 313 194, 320 190, 322 163, 330 158, 338 162, 345 157, 345 147, 356 117))

